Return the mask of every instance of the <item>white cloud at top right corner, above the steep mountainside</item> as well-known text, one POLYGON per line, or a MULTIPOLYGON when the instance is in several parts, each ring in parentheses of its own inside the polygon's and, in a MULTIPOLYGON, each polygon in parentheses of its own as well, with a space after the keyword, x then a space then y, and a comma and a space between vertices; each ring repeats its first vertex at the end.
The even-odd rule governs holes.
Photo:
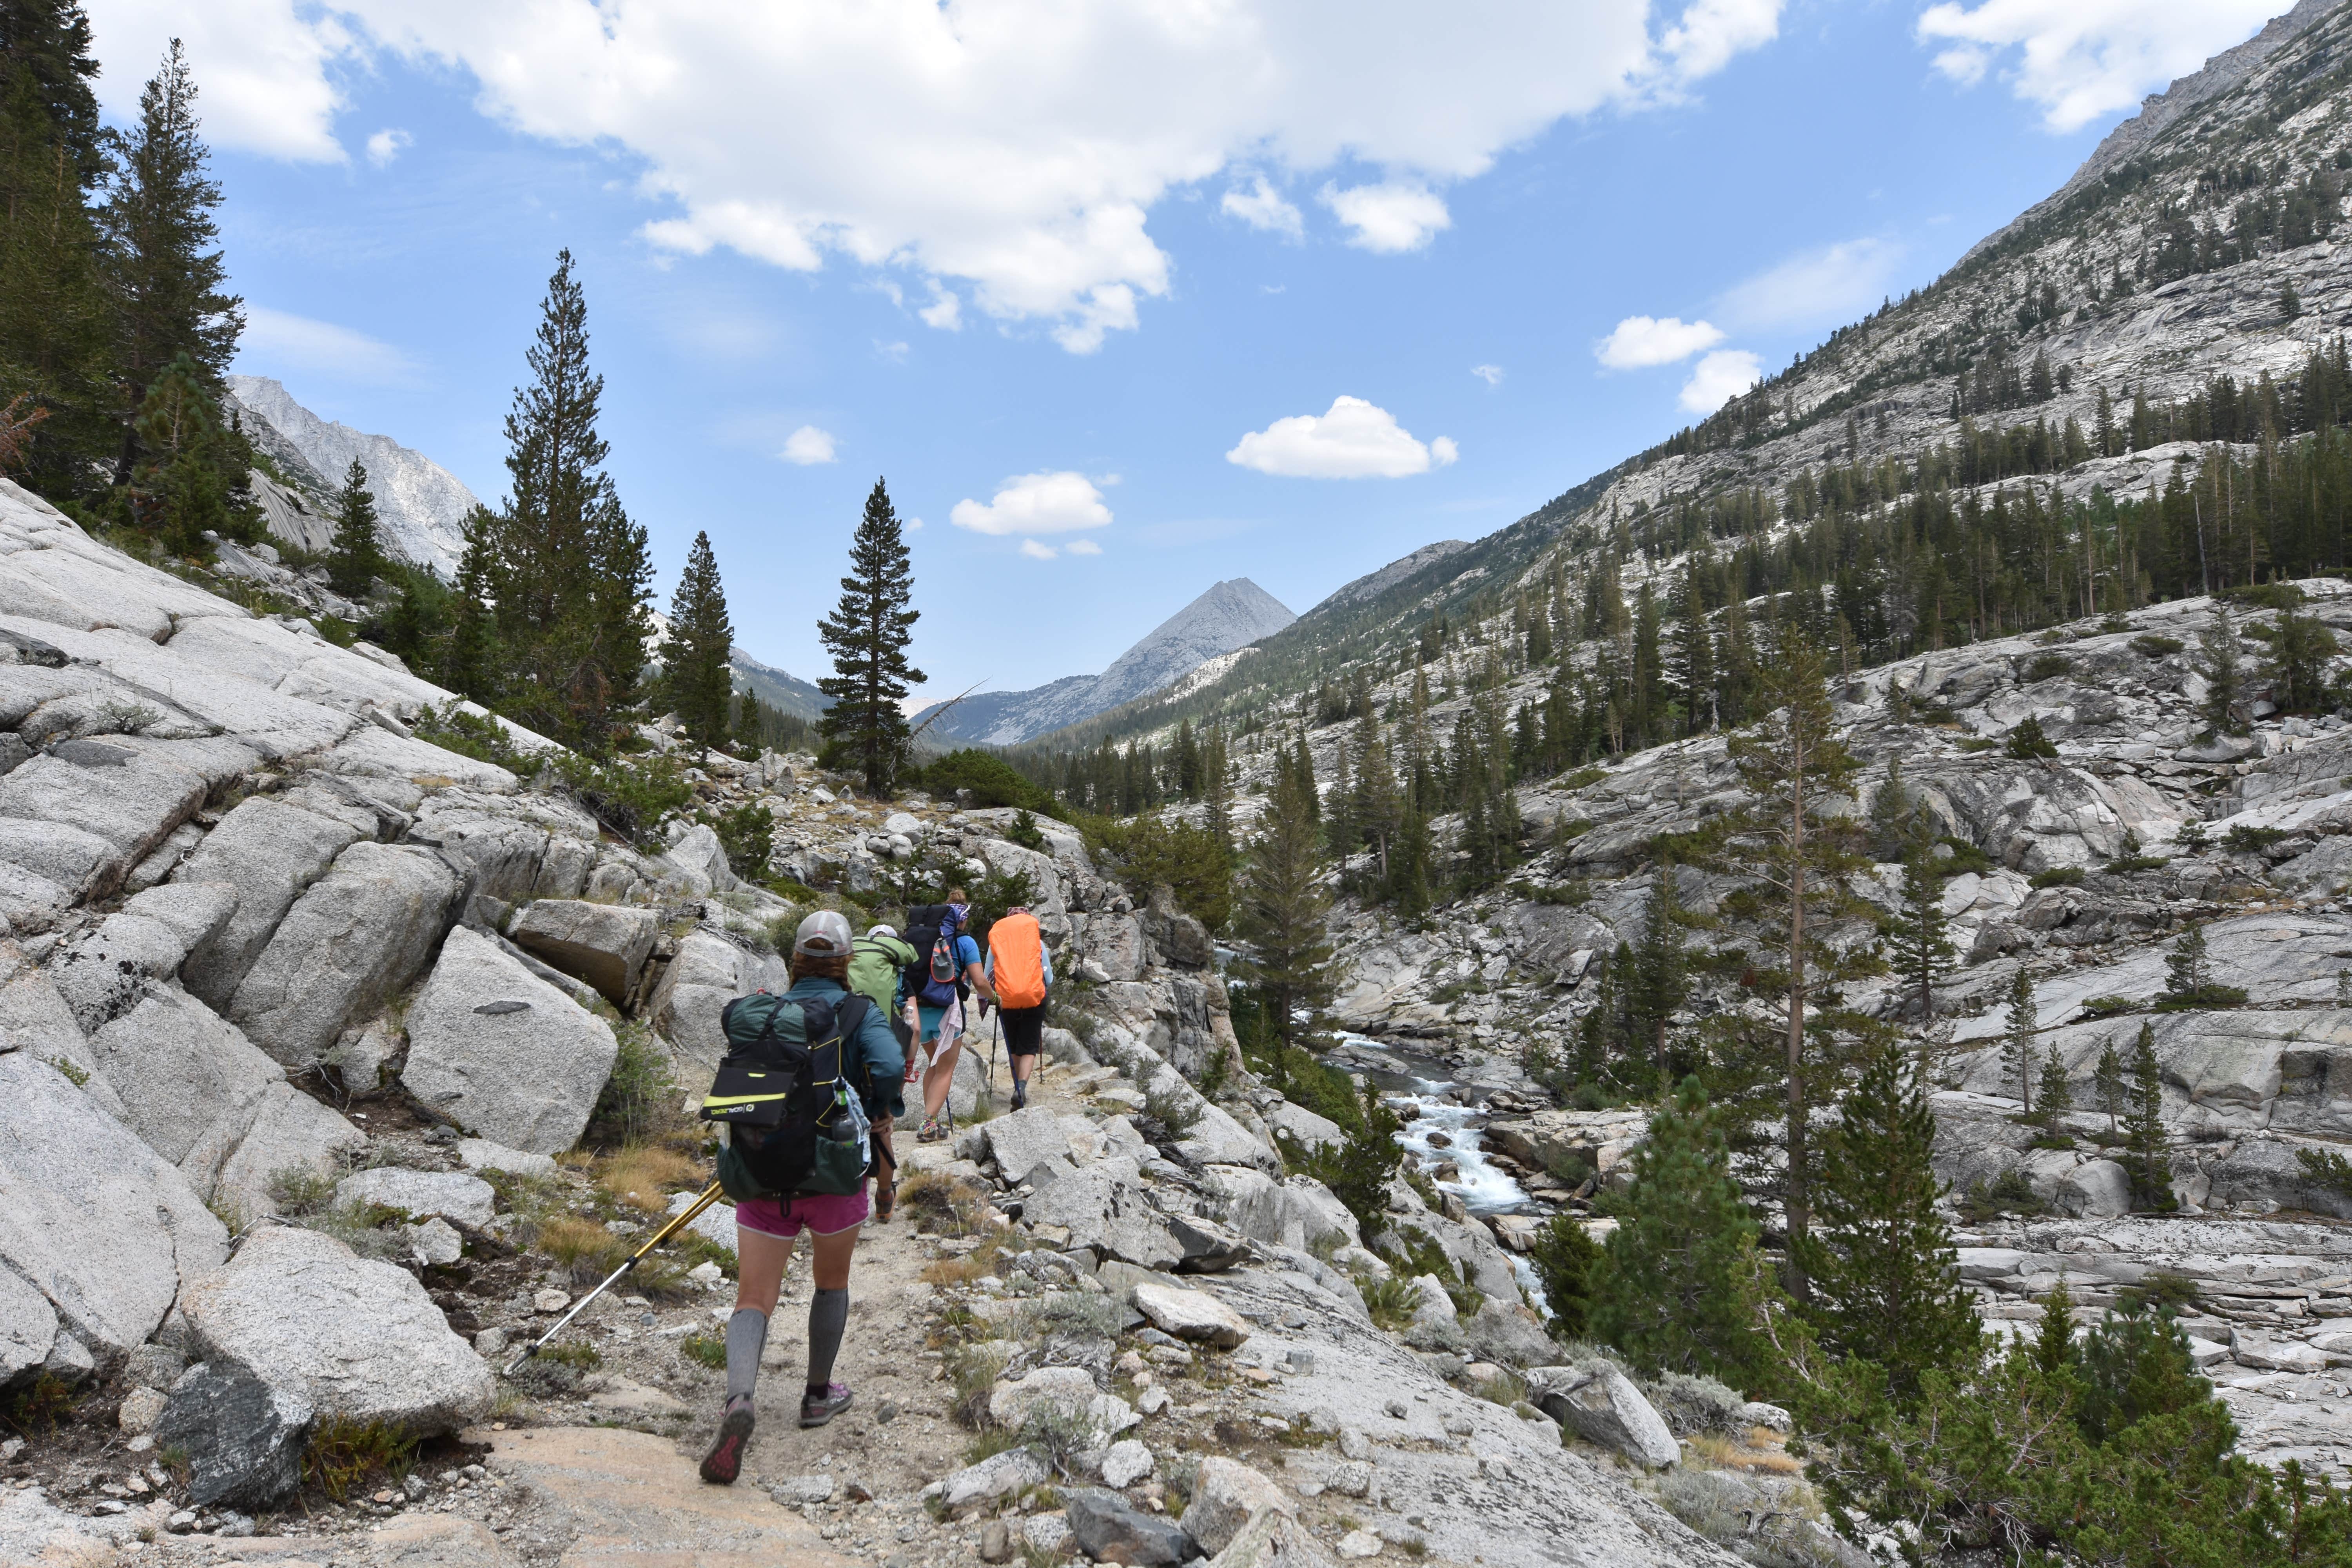
POLYGON ((1919 12, 1936 71, 1969 87, 1994 68, 2053 132, 2136 106, 2244 42, 2284 0, 1945 0, 1919 12))

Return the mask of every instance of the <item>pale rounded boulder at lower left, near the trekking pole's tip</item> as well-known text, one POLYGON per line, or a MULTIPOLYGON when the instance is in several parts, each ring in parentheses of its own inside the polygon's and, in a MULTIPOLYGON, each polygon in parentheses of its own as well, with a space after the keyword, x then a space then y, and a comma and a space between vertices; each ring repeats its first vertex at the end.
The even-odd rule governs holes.
POLYGON ((273 1225, 195 1279, 181 1312, 207 1359, 230 1356, 320 1415, 449 1432, 489 1410, 496 1380, 407 1269, 334 1237, 273 1225))

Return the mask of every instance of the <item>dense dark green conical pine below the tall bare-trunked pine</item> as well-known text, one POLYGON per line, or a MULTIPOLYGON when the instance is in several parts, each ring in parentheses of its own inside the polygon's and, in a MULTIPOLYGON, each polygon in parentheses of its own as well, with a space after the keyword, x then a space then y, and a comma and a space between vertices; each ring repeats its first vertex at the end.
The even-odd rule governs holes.
POLYGON ((1886 1039, 1820 1140, 1820 1208, 1804 1239, 1820 1342, 1886 1368, 1898 1399, 1978 1354, 1976 1295, 1936 1201, 1936 1117, 1915 1058, 1886 1039))

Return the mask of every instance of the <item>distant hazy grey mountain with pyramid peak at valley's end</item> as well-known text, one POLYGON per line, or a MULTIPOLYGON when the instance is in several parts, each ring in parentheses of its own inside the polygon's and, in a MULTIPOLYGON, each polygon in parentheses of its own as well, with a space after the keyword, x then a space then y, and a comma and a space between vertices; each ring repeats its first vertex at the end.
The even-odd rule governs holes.
MULTIPOLYGON (((941 741, 1018 745, 1162 691, 1291 621, 1296 616, 1270 592, 1249 578, 1230 578, 1155 625, 1101 675, 1065 675, 1030 691, 978 691, 938 715, 927 733, 941 741)), ((922 724, 934 712, 938 710, 924 708, 915 722, 922 724)))

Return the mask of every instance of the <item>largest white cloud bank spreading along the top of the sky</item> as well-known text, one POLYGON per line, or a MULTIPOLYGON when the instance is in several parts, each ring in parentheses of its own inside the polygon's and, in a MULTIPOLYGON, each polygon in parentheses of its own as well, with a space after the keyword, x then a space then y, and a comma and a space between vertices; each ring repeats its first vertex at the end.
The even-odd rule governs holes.
MULTIPOLYGON (((1073 353, 1169 292, 1171 190, 1364 172, 1355 244, 1416 249, 1446 183, 1562 118, 1639 106, 1750 49, 1783 0, 92 0, 120 115, 188 38, 219 146, 341 158, 336 82, 383 54, 473 78, 485 115, 640 169, 652 244, 948 280, 1073 353)), ((1270 181, 1272 183, 1272 181, 1270 181)), ((1256 195, 1251 183, 1244 200, 1256 195)), ((1263 209, 1279 221, 1279 212, 1263 209)))

